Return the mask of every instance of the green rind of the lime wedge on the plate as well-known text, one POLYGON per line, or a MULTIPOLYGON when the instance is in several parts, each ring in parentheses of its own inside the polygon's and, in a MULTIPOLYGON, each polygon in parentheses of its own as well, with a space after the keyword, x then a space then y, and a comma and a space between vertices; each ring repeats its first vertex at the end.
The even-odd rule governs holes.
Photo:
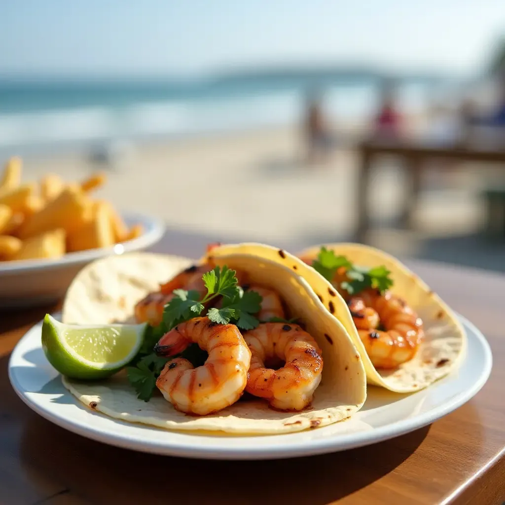
MULTIPOLYGON (((128 357, 121 362, 114 364, 99 364, 94 366, 92 363, 85 359, 79 359, 75 351, 66 348, 61 339, 61 332, 71 325, 64 325, 51 315, 46 314, 42 323, 42 349, 44 351, 47 361, 62 375, 72 379, 104 379, 117 373, 130 363, 137 354, 144 339, 146 324, 140 325, 104 325, 123 327, 127 330, 133 330, 138 335, 135 345, 132 347, 128 357)), ((99 326, 93 325, 98 330, 99 326)), ((78 326, 75 326, 78 328, 78 326)))

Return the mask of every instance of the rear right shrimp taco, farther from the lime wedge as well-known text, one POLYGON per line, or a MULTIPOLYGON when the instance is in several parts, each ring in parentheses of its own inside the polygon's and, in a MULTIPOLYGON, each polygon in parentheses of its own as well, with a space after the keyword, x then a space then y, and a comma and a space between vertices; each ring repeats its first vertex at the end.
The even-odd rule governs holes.
POLYGON ((415 391, 459 365, 466 348, 461 323, 397 259, 356 243, 299 256, 318 272, 306 279, 359 348, 369 384, 415 391))

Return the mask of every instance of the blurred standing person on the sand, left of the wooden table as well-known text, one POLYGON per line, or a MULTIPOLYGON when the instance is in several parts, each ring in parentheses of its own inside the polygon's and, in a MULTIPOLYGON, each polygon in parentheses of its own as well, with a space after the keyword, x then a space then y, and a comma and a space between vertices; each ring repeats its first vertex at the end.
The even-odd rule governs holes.
POLYGON ((328 161, 332 146, 332 137, 328 122, 324 116, 319 92, 309 92, 307 100, 304 132, 307 143, 307 161, 309 165, 328 161))

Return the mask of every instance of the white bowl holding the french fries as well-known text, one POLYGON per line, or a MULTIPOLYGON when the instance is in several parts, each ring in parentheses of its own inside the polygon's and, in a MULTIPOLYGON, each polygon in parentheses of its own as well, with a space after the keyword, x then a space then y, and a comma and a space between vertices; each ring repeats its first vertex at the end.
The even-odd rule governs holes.
POLYGON ((93 260, 113 254, 145 249, 163 236, 162 221, 141 215, 126 214, 128 226, 141 224, 144 233, 113 247, 69 252, 57 260, 21 260, 0 262, 0 308, 31 307, 61 298, 81 268, 93 260))

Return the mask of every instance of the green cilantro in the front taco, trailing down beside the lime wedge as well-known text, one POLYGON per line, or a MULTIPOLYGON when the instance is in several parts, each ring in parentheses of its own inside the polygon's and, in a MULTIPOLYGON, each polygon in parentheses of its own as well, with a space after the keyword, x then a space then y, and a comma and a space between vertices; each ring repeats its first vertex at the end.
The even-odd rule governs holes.
POLYGON ((137 392, 137 397, 149 401, 156 389, 156 379, 165 364, 182 357, 189 360, 193 366, 202 365, 207 353, 197 344, 187 347, 180 355, 169 358, 157 356, 153 348, 160 338, 172 328, 194 317, 200 316, 208 302, 218 296, 222 297, 221 307, 212 307, 207 311, 207 317, 217 324, 233 322, 244 330, 254 329, 259 325, 254 316, 260 311, 262 297, 256 291, 244 291, 236 278, 236 272, 227 266, 215 267, 202 277, 207 293, 201 297, 198 291, 175 289, 173 297, 165 306, 163 321, 156 327, 147 326, 144 341, 137 356, 127 367, 130 384, 137 392))

